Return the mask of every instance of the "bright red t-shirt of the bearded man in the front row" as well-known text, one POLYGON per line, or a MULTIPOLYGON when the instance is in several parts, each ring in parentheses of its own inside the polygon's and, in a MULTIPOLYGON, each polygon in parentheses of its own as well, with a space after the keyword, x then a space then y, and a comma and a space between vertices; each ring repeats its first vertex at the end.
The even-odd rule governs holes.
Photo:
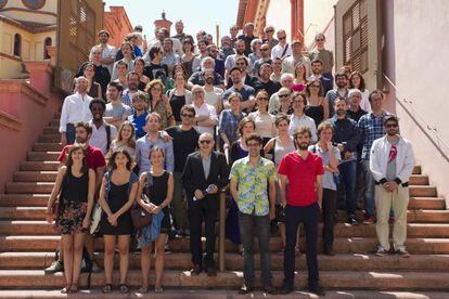
POLYGON ((305 207, 317 203, 317 176, 324 173, 320 156, 309 153, 307 158, 303 159, 297 152, 292 152, 282 158, 278 173, 288 179, 288 205, 305 207))

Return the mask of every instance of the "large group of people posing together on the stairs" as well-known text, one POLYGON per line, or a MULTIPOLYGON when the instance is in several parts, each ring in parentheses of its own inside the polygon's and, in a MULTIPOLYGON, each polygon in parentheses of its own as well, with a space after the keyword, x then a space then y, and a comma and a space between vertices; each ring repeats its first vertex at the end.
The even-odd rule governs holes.
POLYGON ((182 21, 175 27, 175 36, 156 28, 146 41, 137 26, 118 50, 100 31, 100 44, 64 100, 65 146, 48 203, 48 221, 55 221, 62 238, 60 255, 46 270, 64 269, 63 292, 78 290, 84 258, 90 270, 99 268, 98 236, 104 240, 103 292, 113 290, 116 247, 118 289, 129 291, 133 239, 141 250, 141 292, 149 290, 153 244, 154 290, 163 291, 171 236, 190 238, 192 275, 216 276, 218 195, 228 184, 226 236, 243 256, 241 294, 254 290, 256 236, 265 291, 293 291, 304 224, 308 287, 322 295, 318 223, 322 217, 323 252, 334 256, 337 209, 347 211, 351 225, 359 224, 357 209, 364 209, 363 223, 376 225, 377 256, 389 251, 393 218, 394 249, 409 256, 403 244, 412 147, 399 134, 398 118, 384 110, 383 93, 369 92, 361 73, 344 67, 333 75, 323 34, 305 56, 299 40, 288 43, 282 29, 274 38, 272 26, 264 29, 265 38, 254 35, 251 23, 241 36, 232 26, 220 48, 205 31, 195 43, 182 21), (152 217, 137 229, 139 211, 152 217), (273 227, 283 245, 280 289, 271 282, 273 227))

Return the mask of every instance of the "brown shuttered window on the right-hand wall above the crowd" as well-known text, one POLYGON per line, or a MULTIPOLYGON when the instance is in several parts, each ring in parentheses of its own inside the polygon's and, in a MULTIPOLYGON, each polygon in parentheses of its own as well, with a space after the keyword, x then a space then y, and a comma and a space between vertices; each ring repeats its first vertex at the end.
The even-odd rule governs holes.
POLYGON ((368 70, 367 0, 358 0, 343 15, 343 61, 352 70, 368 70))

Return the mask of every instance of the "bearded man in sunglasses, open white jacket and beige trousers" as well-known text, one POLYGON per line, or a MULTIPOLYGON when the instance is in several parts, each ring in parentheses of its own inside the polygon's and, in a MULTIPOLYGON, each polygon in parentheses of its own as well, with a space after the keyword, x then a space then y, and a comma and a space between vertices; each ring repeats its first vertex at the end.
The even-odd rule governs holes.
POLYGON ((386 135, 371 146, 370 170, 375 180, 375 206, 379 239, 376 256, 389 250, 389 213, 393 208, 393 245, 396 253, 410 257, 403 245, 407 240, 407 206, 409 204, 409 179, 414 167, 414 155, 410 141, 399 135, 399 120, 394 115, 383 118, 386 135))

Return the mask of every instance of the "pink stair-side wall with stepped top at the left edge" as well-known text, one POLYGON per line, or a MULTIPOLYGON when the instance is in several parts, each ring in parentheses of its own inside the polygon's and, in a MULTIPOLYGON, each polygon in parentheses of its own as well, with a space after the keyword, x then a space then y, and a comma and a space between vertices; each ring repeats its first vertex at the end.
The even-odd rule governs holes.
POLYGON ((53 115, 60 110, 62 95, 50 91, 53 73, 49 61, 25 63, 30 82, 0 80, 0 193, 12 181, 53 115))

